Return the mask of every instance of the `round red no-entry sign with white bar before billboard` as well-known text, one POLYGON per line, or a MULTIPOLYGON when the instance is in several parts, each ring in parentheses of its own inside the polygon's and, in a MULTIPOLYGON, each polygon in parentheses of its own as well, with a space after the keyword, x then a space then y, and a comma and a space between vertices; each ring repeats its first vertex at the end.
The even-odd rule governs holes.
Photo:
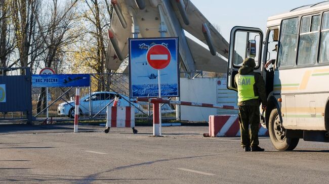
POLYGON ((169 65, 171 54, 166 46, 153 45, 148 49, 146 53, 146 58, 148 64, 153 69, 161 70, 169 65))

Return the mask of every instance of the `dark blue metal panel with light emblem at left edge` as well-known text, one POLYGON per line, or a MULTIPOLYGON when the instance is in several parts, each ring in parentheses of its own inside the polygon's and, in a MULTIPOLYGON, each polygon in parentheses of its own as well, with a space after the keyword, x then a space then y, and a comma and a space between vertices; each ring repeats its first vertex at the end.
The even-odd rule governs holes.
POLYGON ((0 120, 26 118, 31 124, 30 68, 0 68, 0 72, 0 120))

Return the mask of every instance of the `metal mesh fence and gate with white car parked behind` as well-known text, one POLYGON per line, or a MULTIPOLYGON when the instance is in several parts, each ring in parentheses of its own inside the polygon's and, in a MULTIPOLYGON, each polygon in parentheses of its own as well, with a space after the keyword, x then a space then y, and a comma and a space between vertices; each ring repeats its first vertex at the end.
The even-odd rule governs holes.
MULTIPOLYGON (((135 117, 143 119, 152 119, 152 106, 146 102, 136 102, 129 98, 129 76, 126 74, 90 74, 90 87, 80 88, 80 117, 81 119, 105 119, 106 106, 111 101, 112 95, 118 93, 121 95, 121 106, 135 106, 135 117), (103 92, 103 93, 102 93, 103 92), (90 97, 90 98, 89 98, 90 97), (95 99, 93 99, 95 97, 95 99), (97 97, 98 100, 96 99, 97 97)), ((56 120, 67 120, 72 113, 74 103, 75 88, 46 88, 32 87, 32 114, 37 120, 46 118, 48 108, 49 117, 56 120), (48 98, 48 105, 47 105, 48 98), (65 105, 65 113, 61 113, 60 108, 65 105)), ((175 110, 168 104, 162 107, 163 117, 176 118, 175 110)), ((50 120, 50 119, 49 119, 50 120)))

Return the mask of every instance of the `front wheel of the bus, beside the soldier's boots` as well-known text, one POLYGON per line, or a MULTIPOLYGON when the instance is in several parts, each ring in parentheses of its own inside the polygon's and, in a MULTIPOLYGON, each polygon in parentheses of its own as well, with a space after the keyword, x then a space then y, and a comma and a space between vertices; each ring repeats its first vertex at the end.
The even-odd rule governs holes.
POLYGON ((279 151, 294 150, 299 138, 286 138, 286 130, 283 128, 279 113, 276 108, 272 109, 269 117, 269 135, 275 149, 279 151))

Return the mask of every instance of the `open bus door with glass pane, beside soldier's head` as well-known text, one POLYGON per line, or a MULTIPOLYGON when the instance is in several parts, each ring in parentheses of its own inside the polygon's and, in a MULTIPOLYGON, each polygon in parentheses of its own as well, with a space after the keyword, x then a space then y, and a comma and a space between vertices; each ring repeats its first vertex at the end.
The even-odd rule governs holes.
POLYGON ((254 72, 261 72, 263 32, 259 28, 235 26, 231 30, 230 47, 227 67, 227 89, 237 91, 234 77, 242 66, 243 59, 255 59, 254 72))

